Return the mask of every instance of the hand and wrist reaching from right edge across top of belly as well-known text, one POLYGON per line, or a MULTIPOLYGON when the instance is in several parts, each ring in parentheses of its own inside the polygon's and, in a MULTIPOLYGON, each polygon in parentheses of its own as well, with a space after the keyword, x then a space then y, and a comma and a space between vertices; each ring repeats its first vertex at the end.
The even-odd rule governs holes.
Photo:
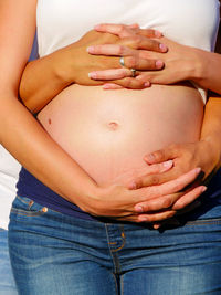
MULTIPOLYGON (((108 32, 118 35, 120 39, 126 36, 136 36, 137 40, 146 34, 146 30, 128 28, 122 24, 99 24, 95 29, 98 32, 108 32)), ((220 34, 218 38, 221 39, 220 34)), ((125 67, 135 69, 136 78, 147 84, 168 85, 181 81, 191 80, 202 88, 211 89, 221 94, 221 54, 200 50, 192 46, 186 46, 161 36, 160 42, 165 49, 162 52, 143 50, 137 51, 120 50, 119 45, 93 46, 91 54, 108 54, 113 56, 124 56, 125 67), (166 54, 165 54, 166 53, 166 54), (143 61, 156 61, 158 69, 148 69, 143 61), (180 71, 181 69, 181 71, 180 71), (152 71, 154 70, 154 71, 152 71)), ((122 78, 124 77, 124 67, 112 69, 106 71, 94 71, 91 73, 93 80, 107 81, 106 89, 120 88, 122 78), (112 83, 109 80, 113 80, 112 83)), ((131 82, 133 83, 133 82, 131 82)))

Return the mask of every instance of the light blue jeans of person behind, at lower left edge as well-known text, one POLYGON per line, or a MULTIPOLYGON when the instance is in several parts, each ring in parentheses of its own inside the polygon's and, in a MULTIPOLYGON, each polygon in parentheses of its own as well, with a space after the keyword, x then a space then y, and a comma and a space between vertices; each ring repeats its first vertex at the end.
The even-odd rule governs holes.
POLYGON ((17 295, 8 249, 8 231, 0 229, 0 295, 17 295))

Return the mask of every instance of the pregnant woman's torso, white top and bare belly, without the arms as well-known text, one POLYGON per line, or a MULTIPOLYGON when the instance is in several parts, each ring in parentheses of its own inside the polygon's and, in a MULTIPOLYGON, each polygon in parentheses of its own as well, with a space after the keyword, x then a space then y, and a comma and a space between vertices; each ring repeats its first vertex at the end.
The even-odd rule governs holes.
MULTIPOLYGON (((78 40, 96 23, 155 28, 180 43, 211 50, 218 27, 217 0, 41 0, 40 56, 78 40), (116 2, 116 3, 115 3, 116 2)), ((200 93, 190 83, 144 91, 72 85, 39 114, 49 134, 98 183, 124 183, 146 170, 145 154, 199 138, 200 93)))

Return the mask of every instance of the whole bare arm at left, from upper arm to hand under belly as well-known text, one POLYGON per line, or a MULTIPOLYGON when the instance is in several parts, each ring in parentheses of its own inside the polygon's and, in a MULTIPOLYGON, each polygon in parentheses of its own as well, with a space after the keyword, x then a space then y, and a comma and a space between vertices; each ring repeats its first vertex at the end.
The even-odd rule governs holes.
MULTIPOLYGON (((135 212, 138 202, 161 196, 170 198, 171 193, 192 182, 199 169, 193 169, 162 186, 140 190, 129 190, 119 186, 98 187, 51 139, 18 99, 19 83, 35 31, 35 6, 34 0, 0 1, 1 144, 43 183, 86 212, 95 215, 105 213, 138 222, 135 212)), ((160 200, 164 204, 165 199, 160 200)))

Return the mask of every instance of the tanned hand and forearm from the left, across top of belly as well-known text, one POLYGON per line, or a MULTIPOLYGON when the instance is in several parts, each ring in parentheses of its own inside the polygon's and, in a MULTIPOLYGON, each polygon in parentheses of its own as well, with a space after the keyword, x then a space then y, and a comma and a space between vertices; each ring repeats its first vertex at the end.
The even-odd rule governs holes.
MULTIPOLYGON (((128 59, 131 57, 133 60, 138 59, 139 49, 157 52, 167 50, 161 45, 159 32, 145 30, 143 35, 137 36, 134 33, 136 27, 124 25, 126 28, 124 30, 127 32, 124 38, 92 30, 77 42, 28 63, 20 83, 21 101, 31 112, 38 113, 53 97, 74 83, 85 86, 104 85, 107 82, 106 80, 92 80, 88 76, 90 73, 95 70, 118 69, 120 66, 119 57, 106 54, 92 55, 88 51, 94 45, 117 45, 120 52, 126 52, 128 59)), ((155 60, 143 59, 140 62, 145 69, 159 69, 155 60)), ((112 78, 109 82, 112 82, 112 78)), ((119 87, 137 89, 149 86, 146 81, 133 78, 131 71, 126 67, 123 69, 122 78, 116 83, 119 87)))

